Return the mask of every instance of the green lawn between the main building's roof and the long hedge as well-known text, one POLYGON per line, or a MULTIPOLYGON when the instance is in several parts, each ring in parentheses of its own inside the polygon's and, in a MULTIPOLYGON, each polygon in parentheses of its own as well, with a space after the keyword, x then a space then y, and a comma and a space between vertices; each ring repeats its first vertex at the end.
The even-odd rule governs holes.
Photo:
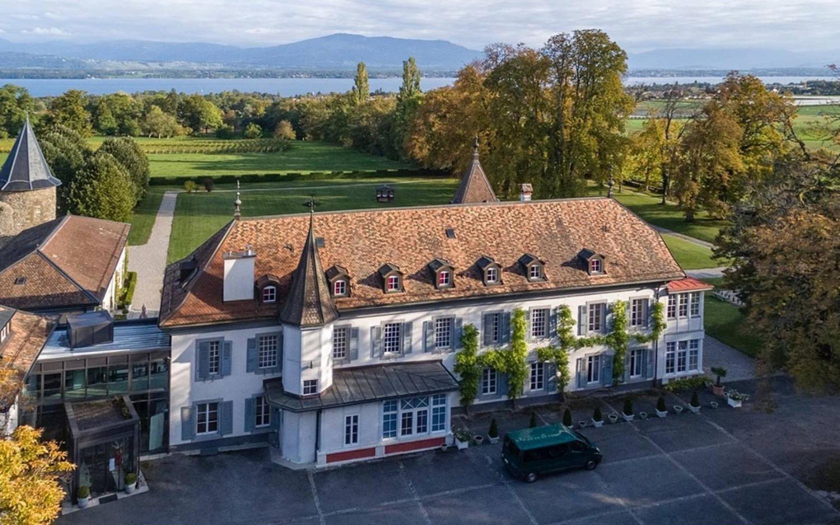
MULTIPOLYGON (((300 182, 300 181, 298 181, 300 182)), ((371 207, 407 207, 446 204, 452 198, 457 179, 401 180, 394 185, 396 199, 390 204, 375 201, 375 187, 385 181, 313 181, 308 185, 284 185, 276 191, 242 192, 244 217, 303 213, 311 195, 318 210, 349 210, 371 207)), ((233 192, 181 193, 175 207, 167 262, 179 260, 233 218, 233 192)))

